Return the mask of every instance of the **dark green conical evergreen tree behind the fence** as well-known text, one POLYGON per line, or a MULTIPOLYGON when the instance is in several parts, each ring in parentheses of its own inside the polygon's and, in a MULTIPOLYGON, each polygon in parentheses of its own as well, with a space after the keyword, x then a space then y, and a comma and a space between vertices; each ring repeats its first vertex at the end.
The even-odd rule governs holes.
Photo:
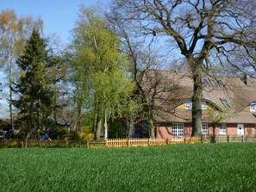
POLYGON ((20 121, 28 136, 49 125, 49 117, 56 109, 54 79, 51 77, 54 59, 47 52, 47 40, 34 28, 22 55, 16 60, 21 77, 15 86, 19 99, 14 101, 20 110, 20 121))

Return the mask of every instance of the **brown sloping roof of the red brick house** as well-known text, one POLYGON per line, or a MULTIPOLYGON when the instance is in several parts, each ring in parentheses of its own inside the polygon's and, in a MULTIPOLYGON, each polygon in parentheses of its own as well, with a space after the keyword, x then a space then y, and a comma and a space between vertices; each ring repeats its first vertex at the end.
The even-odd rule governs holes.
MULTIPOLYGON (((212 77, 204 76, 210 79, 212 77)), ((146 70, 140 76, 141 85, 154 105, 153 115, 159 122, 190 122, 191 111, 177 107, 193 94, 193 80, 188 73, 176 71, 146 70)), ((256 102, 256 79, 251 78, 247 86, 240 77, 215 77, 222 86, 203 87, 203 100, 215 108, 224 108, 222 99, 228 101, 227 122, 256 123, 252 112, 242 111, 251 102, 256 102)), ((203 110, 203 121, 210 122, 209 113, 203 110)))

